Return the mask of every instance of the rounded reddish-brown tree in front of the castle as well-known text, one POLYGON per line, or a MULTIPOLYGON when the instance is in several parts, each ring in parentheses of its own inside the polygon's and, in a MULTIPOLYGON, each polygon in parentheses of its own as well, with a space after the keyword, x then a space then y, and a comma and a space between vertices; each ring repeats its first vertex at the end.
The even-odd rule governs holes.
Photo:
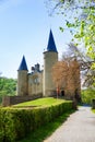
POLYGON ((66 96, 73 98, 75 92, 80 96, 80 66, 75 59, 58 61, 52 68, 52 80, 66 96))

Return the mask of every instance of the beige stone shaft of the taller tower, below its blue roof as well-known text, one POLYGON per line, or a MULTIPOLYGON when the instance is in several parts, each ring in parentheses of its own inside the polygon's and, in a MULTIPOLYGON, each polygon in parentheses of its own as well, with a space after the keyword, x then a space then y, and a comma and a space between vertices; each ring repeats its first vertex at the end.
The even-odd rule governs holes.
POLYGON ((44 52, 44 96, 51 96, 56 91, 52 81, 52 67, 58 61, 58 52, 46 51, 44 52))

